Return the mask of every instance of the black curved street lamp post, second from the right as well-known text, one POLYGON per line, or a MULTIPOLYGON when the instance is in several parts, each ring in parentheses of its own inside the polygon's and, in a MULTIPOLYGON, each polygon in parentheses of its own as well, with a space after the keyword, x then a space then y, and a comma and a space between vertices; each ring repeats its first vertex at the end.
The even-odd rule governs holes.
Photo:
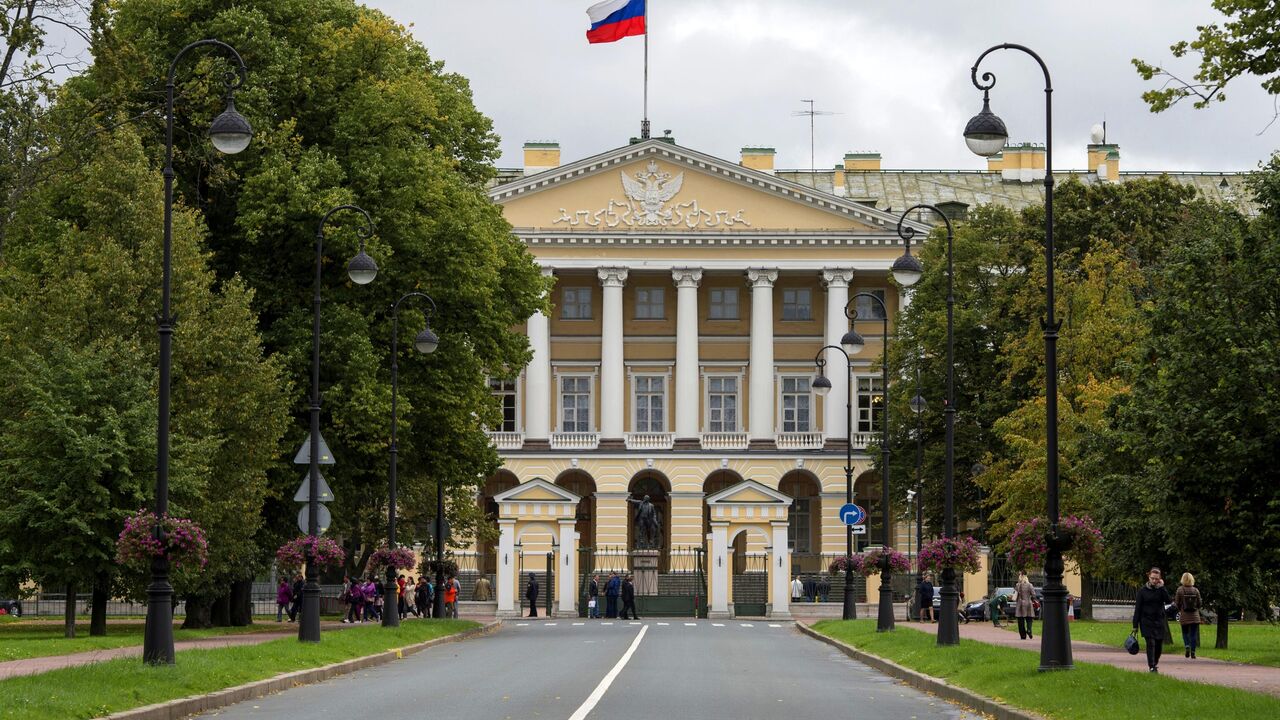
MULTIPOLYGON (((897 234, 906 243, 908 251, 911 249, 911 238, 915 229, 904 225, 906 215, 916 210, 931 210, 942 218, 947 227, 947 397, 943 400, 942 418, 946 424, 946 461, 942 471, 942 536, 955 537, 955 439, 956 439, 956 386, 955 386, 955 272, 952 268, 952 249, 955 246, 955 232, 951 228, 951 218, 934 205, 913 205, 908 208, 897 220, 897 234)), ((942 589, 938 593, 942 598, 938 607, 938 638, 940 646, 960 644, 960 625, 956 623, 957 606, 960 605, 960 591, 956 589, 955 568, 942 568, 942 589)))

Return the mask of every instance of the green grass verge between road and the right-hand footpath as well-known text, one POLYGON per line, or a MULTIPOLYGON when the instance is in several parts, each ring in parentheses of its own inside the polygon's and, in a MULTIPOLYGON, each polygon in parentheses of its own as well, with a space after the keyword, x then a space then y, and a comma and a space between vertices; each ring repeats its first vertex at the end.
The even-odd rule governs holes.
POLYGON ((1046 717, 1280 717, 1280 700, 1165 675, 1089 662, 1076 662, 1071 671, 1041 673, 1037 670, 1038 651, 973 641, 964 641, 956 647, 937 647, 932 634, 909 628, 877 633, 876 620, 823 620, 814 629, 872 655, 1046 717))

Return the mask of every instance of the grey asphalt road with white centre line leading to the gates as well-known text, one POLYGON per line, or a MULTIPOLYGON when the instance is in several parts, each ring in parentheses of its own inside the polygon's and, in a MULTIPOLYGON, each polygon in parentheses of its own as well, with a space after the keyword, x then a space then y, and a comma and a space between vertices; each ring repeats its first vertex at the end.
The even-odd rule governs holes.
POLYGON ((980 716, 790 623, 508 621, 480 638, 202 717, 933 720, 980 716), (622 662, 625 660, 625 662, 622 662))

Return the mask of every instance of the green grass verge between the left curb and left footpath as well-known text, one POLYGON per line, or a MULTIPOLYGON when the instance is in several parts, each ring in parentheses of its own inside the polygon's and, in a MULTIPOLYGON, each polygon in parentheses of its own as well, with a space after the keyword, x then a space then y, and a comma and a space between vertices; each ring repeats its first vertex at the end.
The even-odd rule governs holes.
POLYGON ((325 633, 319 644, 284 638, 247 647, 182 651, 178 662, 168 667, 119 659, 9 678, 0 680, 0 697, 5 698, 0 703, 0 717, 97 717, 362 657, 475 626, 477 624, 470 620, 411 621, 396 629, 364 625, 325 633))

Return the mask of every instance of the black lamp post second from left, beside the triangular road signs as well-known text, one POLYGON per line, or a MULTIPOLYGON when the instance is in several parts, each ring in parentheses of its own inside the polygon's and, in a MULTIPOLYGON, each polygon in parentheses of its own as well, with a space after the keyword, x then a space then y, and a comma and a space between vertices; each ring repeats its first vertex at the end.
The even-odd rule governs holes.
POLYGON ((352 210, 365 217, 365 227, 360 228, 360 252, 347 263, 347 275, 356 284, 369 284, 378 275, 378 264, 365 254, 365 241, 374 234, 374 219, 356 205, 338 205, 325 213, 316 225, 316 273, 315 292, 311 296, 311 474, 307 491, 307 565, 306 584, 302 588, 302 620, 298 623, 301 642, 320 642, 320 569, 312 561, 311 552, 320 527, 320 270, 324 266, 324 228, 329 218, 340 210, 352 210))

